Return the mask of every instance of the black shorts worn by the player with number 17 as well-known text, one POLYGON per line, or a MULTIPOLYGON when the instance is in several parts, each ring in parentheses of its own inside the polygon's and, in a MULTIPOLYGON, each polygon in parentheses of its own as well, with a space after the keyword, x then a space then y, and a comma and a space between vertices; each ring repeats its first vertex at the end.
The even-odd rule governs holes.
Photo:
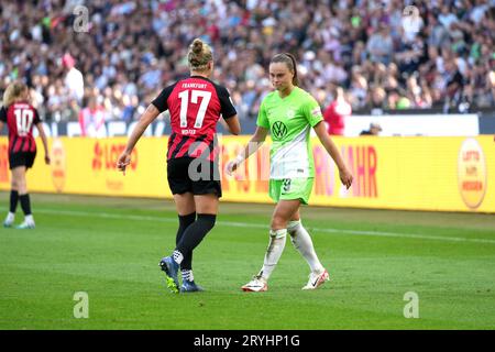
POLYGON ((222 196, 218 163, 193 157, 170 158, 167 162, 168 186, 173 195, 222 196))

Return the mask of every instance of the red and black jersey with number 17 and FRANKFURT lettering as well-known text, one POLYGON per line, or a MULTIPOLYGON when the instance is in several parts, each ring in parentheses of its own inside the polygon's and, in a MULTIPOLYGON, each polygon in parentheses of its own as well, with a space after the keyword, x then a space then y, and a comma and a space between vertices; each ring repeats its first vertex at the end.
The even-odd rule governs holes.
POLYGON ((201 76, 191 76, 166 87, 152 103, 160 112, 167 109, 170 112, 167 160, 200 157, 202 153, 209 153, 208 158, 213 161, 217 122, 220 116, 227 120, 237 114, 227 88, 201 76))

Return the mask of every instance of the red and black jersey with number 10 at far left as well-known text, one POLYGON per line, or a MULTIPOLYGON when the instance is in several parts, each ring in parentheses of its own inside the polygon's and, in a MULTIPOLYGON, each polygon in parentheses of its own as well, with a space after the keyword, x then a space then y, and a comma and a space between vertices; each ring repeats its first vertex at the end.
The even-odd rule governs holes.
POLYGON ((9 129, 9 153, 35 152, 33 125, 41 122, 37 110, 28 102, 14 102, 0 109, 0 121, 9 129))

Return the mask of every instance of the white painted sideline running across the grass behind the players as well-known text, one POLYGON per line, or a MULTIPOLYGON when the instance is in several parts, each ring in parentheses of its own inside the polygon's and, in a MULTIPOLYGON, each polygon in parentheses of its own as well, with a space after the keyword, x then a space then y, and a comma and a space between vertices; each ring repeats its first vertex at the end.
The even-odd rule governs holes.
MULTIPOLYGON (((92 217, 92 218, 106 218, 106 219, 128 219, 139 221, 162 221, 162 222, 177 222, 177 219, 158 218, 147 216, 123 216, 109 212, 87 212, 87 211, 73 211, 73 210, 53 210, 53 209, 37 209, 36 212, 50 213, 50 215, 66 215, 75 217, 92 217)), ((217 221, 218 226, 237 227, 237 228, 257 228, 268 229, 267 224, 252 223, 252 222, 237 222, 237 221, 217 221)), ((309 227, 308 227, 309 228, 309 227)), ((440 235, 426 235, 416 233, 397 233, 397 232, 384 232, 384 231, 363 231, 363 230, 345 230, 345 229, 320 229, 310 227, 312 231, 327 232, 336 234, 352 234, 352 235, 369 235, 369 237, 384 237, 384 238, 405 238, 405 239, 420 239, 420 240, 437 240, 447 242, 474 242, 474 243, 491 243, 495 244, 495 240, 490 239, 465 239, 465 238, 452 238, 440 235)))

